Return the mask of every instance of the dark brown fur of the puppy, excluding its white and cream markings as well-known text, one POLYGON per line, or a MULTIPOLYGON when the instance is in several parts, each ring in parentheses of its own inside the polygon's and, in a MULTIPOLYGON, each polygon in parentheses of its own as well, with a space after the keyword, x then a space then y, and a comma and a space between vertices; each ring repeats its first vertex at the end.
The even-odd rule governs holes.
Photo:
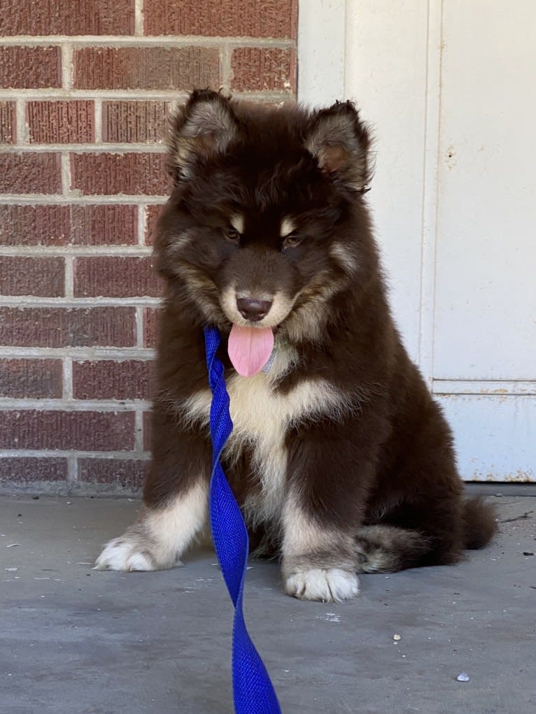
MULTIPOLYGON (((167 294, 147 508, 166 508, 209 478, 207 424, 192 421, 184 403, 207 388, 203 325, 217 325, 227 341, 222 292, 254 286, 298 296, 275 328, 296 359, 274 393, 324 380, 345 396, 337 413, 286 425, 282 488, 299 494, 302 512, 334 538, 289 556, 284 575, 455 563, 465 548, 485 545, 495 533, 492 511, 481 501, 464 505, 450 428, 389 313, 364 198, 369 134, 354 106, 267 109, 195 92, 170 147, 175 187, 155 248, 167 294), (226 233, 234 213, 245 222, 239 243, 226 233), (283 216, 294 220, 297 245, 279 235, 283 216)), ((232 378, 225 344, 220 356, 232 378)), ((224 464, 241 503, 261 488, 252 448, 224 464)), ((252 521, 257 540, 277 552, 282 522, 252 521)))

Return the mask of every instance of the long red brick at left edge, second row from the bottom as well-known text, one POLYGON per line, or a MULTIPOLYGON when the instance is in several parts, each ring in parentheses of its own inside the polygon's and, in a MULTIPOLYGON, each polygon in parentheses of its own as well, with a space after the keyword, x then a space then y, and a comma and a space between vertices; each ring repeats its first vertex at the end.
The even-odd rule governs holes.
POLYGON ((134 412, 0 411, 0 448, 131 451, 134 412))

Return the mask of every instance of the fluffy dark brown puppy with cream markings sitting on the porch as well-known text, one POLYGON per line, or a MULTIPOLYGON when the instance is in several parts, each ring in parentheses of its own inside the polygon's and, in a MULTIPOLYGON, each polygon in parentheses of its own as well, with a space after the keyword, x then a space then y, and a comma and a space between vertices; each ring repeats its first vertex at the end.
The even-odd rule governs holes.
POLYGON ((98 568, 171 568, 206 524, 205 324, 222 333, 231 397, 224 471, 289 595, 344 600, 356 573, 455 563, 492 537, 490 509, 462 501, 450 428, 389 313, 368 149, 349 103, 267 108, 194 91, 174 119, 152 468, 137 523, 98 568), (274 331, 265 371, 234 370, 232 326, 274 331))

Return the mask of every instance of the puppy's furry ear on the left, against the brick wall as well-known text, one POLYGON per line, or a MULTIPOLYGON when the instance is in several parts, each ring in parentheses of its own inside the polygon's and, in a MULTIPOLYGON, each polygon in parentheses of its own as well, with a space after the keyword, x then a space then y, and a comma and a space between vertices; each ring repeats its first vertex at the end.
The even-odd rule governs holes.
POLYGON ((236 139, 239 126, 227 97, 196 89, 172 118, 168 141, 168 169, 174 183, 192 176, 196 166, 224 154, 236 139))

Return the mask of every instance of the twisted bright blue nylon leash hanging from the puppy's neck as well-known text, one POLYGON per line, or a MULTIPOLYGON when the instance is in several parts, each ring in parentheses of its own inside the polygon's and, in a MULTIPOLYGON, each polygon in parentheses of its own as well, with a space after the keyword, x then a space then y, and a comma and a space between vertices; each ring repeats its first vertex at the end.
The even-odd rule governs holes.
POLYGON ((242 612, 249 539, 244 518, 219 463, 233 428, 229 414, 229 394, 225 387, 224 366, 216 356, 221 341, 219 330, 215 327, 205 327, 204 340, 209 385, 212 391, 210 525, 214 549, 234 604, 232 642, 234 711, 236 714, 281 714, 274 687, 249 637, 242 612))

